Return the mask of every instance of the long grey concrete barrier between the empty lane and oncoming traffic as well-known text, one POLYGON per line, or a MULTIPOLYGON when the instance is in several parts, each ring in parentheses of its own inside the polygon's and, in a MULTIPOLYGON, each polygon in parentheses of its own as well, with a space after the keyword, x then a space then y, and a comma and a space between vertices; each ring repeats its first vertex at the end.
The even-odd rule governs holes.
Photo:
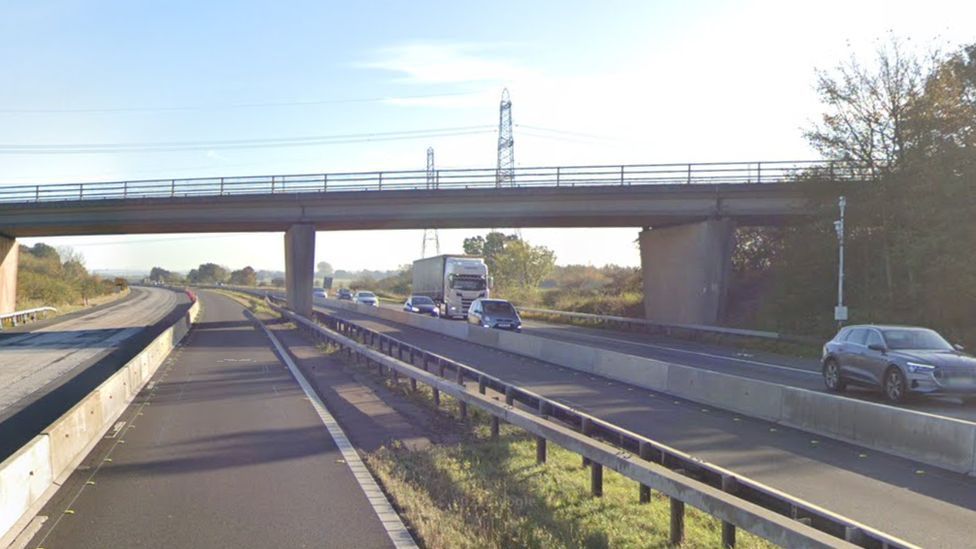
POLYGON ((329 305, 976 474, 976 423, 565 341, 329 300, 329 305))

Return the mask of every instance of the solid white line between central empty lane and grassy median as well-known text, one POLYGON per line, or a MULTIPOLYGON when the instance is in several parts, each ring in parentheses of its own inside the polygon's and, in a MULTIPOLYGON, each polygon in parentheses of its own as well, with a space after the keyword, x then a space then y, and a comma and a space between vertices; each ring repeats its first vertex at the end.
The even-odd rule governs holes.
MULTIPOLYGON (((251 316, 251 315, 249 315, 251 316)), ((252 316, 252 318, 254 318, 252 316)), ((393 510, 393 506, 390 505, 390 501, 386 499, 386 495, 380 490, 380 487, 376 484, 376 480, 373 475, 370 474, 369 469, 363 464, 362 460, 359 459, 359 454, 356 453, 356 449, 353 448, 349 439, 346 438, 346 434, 342 431, 342 427, 339 427, 339 423, 332 417, 329 413, 328 408, 325 407, 325 403, 319 398, 319 395, 315 393, 312 386, 305 379, 301 370, 292 361, 291 357, 288 356, 288 352, 282 347, 281 343, 278 342, 278 338, 268 330, 267 326, 263 322, 254 318, 267 334, 268 339, 271 340, 272 345, 278 351, 278 358, 285 363, 285 366, 291 371, 291 374, 298 381, 298 384, 302 387, 302 391, 308 397, 308 400, 312 403, 312 408, 315 409, 315 413, 318 414, 319 419, 328 429, 329 434, 332 436, 332 440, 335 441, 336 446, 339 451, 342 452, 342 457, 346 460, 346 465, 349 466, 349 470, 352 471, 354 477, 356 477, 356 482, 359 483, 359 487, 362 489, 363 494, 366 495, 366 499, 369 501, 370 506, 376 513, 376 517, 383 524, 383 528, 386 530, 387 535, 390 536, 390 541, 393 542, 394 547, 398 548, 416 548, 417 543, 414 541, 413 536, 407 531, 406 526, 403 525, 403 521, 400 520, 400 515, 393 510)))

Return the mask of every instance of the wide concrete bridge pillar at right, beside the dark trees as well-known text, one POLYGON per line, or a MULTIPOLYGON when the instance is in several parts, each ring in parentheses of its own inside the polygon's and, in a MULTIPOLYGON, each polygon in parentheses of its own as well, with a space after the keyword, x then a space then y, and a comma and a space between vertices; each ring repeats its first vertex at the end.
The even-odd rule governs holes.
POLYGON ((644 316, 669 324, 717 324, 725 312, 735 222, 644 229, 640 233, 644 316))

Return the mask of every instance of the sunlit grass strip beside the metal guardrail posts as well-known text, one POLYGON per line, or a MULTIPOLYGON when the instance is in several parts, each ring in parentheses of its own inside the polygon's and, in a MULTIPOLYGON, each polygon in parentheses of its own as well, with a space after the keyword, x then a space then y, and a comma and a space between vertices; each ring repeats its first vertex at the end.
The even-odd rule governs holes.
MULTIPOLYGON (((324 352, 333 348, 323 345, 324 352)), ((340 356, 336 354, 335 356, 340 356)), ((354 365, 347 359, 346 363, 354 365)), ((370 370, 378 377, 376 370, 370 370)), ((401 377, 383 383, 401 398, 437 412, 433 392, 416 392, 401 377)), ((604 470, 603 497, 590 496, 589 469, 579 455, 548 444, 547 463, 537 464, 535 440, 502 425, 492 440, 488 414, 471 409, 457 418, 457 401, 441 395, 440 421, 423 449, 392 443, 365 456, 422 545, 457 547, 666 547, 670 514, 666 497, 655 492, 638 503, 638 485, 604 470)), ((686 508, 684 547, 721 547, 721 523, 686 508)), ((739 547, 774 547, 739 532, 739 547)))

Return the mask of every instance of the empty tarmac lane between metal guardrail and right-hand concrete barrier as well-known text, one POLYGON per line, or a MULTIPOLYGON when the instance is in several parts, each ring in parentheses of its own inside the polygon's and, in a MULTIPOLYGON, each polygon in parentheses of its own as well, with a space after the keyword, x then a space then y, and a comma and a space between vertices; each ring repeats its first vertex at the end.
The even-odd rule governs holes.
MULTIPOLYGON (((976 480, 965 475, 392 321, 317 308, 469 364, 918 545, 972 545, 976 480)), ((536 335, 556 337, 555 330, 560 337, 584 341, 570 335, 575 329, 535 326, 536 335)), ((616 341, 603 344, 622 350, 616 341)), ((685 356, 683 362, 693 360, 691 356, 685 356)))

